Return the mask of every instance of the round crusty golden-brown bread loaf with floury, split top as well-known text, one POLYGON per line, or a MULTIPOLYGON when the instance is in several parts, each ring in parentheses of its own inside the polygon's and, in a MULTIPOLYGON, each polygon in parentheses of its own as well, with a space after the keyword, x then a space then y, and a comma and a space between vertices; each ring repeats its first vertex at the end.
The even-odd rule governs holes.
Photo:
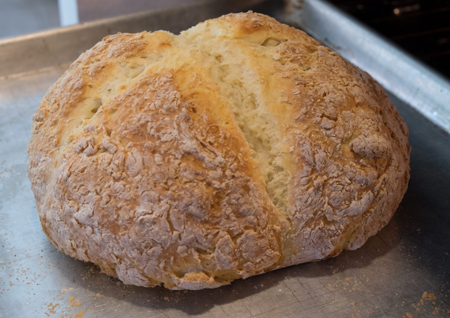
POLYGON ((407 138, 369 74, 248 12, 81 54, 33 116, 28 173, 60 251, 195 290, 360 247, 406 191, 407 138))

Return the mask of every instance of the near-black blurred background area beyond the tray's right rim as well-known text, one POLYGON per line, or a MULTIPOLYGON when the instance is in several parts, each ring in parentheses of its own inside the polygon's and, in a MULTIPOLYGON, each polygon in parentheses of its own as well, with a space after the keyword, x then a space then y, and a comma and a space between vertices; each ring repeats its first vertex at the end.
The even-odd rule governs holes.
POLYGON ((329 0, 450 77, 450 0, 329 0))

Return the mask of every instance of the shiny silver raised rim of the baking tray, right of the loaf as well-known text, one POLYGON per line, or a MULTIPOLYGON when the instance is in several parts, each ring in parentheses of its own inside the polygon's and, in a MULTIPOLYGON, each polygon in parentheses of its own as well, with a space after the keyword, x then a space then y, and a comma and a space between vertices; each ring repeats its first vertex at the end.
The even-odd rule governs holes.
POLYGON ((322 0, 297 0, 288 14, 317 40, 366 72, 393 94, 450 132, 450 83, 369 28, 322 0))

